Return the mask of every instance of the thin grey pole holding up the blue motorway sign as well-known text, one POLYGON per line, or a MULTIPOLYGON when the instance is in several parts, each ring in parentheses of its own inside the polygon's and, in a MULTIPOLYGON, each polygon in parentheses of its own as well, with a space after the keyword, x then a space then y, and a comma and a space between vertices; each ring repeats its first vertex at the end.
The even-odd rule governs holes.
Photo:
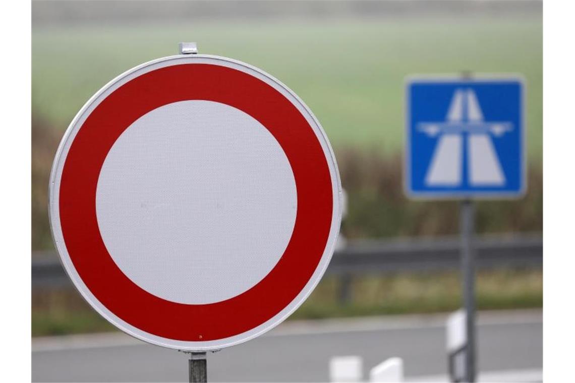
POLYGON ((461 271, 463 282, 463 307, 466 312, 465 382, 476 379, 476 334, 475 334, 475 256, 473 235, 475 212, 473 201, 461 202, 459 209, 461 230, 461 271))

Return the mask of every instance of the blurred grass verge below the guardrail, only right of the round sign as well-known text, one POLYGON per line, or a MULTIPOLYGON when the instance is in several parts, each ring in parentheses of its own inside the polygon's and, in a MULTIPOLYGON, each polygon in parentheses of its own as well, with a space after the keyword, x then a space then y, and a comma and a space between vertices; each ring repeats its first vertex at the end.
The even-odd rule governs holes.
MULTIPOLYGON (((290 318, 449 312, 462 302, 455 271, 356 277, 348 304, 338 303, 338 288, 337 278, 324 278, 290 318)), ((535 269, 482 270, 477 273, 476 304, 478 310, 542 307, 543 274, 535 269)))

